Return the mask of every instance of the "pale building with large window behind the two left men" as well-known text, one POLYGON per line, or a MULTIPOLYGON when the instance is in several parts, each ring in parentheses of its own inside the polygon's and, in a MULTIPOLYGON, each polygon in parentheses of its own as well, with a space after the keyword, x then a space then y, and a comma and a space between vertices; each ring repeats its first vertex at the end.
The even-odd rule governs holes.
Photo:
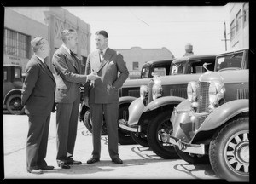
MULTIPOLYGON (((51 60, 61 47, 61 31, 73 28, 78 32, 79 46, 76 54, 85 64, 90 53, 90 25, 61 7, 8 7, 4 9, 3 63, 22 66, 33 55, 30 42, 34 37, 46 37, 50 44, 51 60)), ((52 65, 49 65, 52 68, 52 65)))

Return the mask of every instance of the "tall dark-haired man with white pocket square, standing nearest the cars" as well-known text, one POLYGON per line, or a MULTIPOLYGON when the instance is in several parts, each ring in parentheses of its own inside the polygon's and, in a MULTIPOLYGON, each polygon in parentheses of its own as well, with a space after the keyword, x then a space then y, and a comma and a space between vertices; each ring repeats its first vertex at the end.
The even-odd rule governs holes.
MULTIPOLYGON (((97 50, 88 55, 85 74, 97 72, 101 79, 91 84, 89 92, 92 120, 93 151, 87 164, 98 162, 101 157, 102 116, 108 130, 108 152, 113 163, 123 164, 118 152, 119 88, 129 76, 123 56, 108 48, 108 32, 96 32, 97 50)), ((86 96, 84 98, 86 100, 86 96)))

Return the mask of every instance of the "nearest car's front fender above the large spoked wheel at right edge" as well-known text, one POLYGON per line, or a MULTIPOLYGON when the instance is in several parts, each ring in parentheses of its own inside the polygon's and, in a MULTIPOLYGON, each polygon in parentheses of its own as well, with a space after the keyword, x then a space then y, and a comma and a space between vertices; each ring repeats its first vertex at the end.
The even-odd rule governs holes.
POLYGON ((218 108, 212 111, 204 123, 201 124, 198 132, 215 129, 242 112, 249 112, 248 99, 239 99, 224 103, 224 105, 218 106, 218 108))

